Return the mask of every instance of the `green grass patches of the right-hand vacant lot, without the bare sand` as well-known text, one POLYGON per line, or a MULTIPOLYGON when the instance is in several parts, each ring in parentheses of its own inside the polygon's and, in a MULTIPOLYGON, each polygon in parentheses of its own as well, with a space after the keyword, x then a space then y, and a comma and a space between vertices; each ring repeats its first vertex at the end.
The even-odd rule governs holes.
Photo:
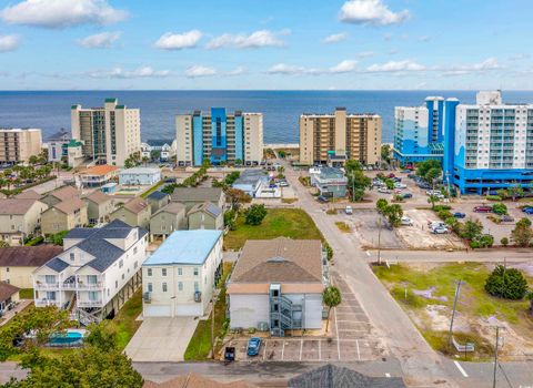
MULTIPOLYGON (((380 266, 373 268, 375 275, 385 284, 396 302, 416 316, 415 324, 428 343, 435 349, 449 354, 447 333, 433 330, 431 318, 426 314, 428 305, 453 306, 455 282, 462 279, 457 313, 469 321, 477 318, 496 317, 507 321, 522 336, 529 336, 533 330, 533 318, 527 315, 527 300, 505 300, 490 296, 484 290, 489 268, 479 263, 445 264, 423 268, 412 268, 406 265, 393 265, 391 268, 380 266), (405 297, 405 287, 408 288, 405 297), (433 298, 425 298, 413 293, 434 287, 433 298), (445 297, 446 300, 438 299, 445 297)), ((529 279, 532 283, 532 279, 529 279)), ((460 343, 473 341, 476 346, 474 359, 485 359, 491 355, 492 345, 476 333, 454 333, 460 343)))

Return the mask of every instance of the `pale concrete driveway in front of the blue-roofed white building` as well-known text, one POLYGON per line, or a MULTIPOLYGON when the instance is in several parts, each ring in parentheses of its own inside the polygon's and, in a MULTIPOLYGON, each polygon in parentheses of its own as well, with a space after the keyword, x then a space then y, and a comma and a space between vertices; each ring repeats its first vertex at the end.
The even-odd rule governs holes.
POLYGON ((125 354, 134 363, 183 361, 197 325, 194 317, 144 318, 125 354))

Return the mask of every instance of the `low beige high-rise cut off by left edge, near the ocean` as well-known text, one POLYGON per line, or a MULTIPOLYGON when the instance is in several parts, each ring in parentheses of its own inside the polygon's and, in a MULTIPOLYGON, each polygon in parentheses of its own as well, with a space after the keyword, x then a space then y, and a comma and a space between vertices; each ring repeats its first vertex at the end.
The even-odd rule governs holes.
POLYGON ((0 129, 0 163, 17 164, 28 162, 39 155, 42 149, 41 130, 0 129))

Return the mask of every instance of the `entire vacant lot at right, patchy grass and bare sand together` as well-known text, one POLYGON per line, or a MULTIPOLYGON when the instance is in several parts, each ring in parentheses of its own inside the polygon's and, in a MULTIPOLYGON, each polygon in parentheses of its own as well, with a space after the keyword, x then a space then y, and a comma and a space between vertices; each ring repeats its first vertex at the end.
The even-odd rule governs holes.
MULTIPOLYGON (((394 299, 408 313, 428 343, 438 351, 469 360, 485 360, 493 356, 495 326, 504 327, 503 359, 523 360, 533 353, 533 316, 526 298, 510 300, 491 296, 485 282, 494 265, 401 264, 374 266, 394 299), (453 325, 459 345, 473 343, 475 351, 460 353, 449 346, 449 330, 456 284, 462 280, 453 325)), ((530 287, 533 267, 522 268, 530 287)))

